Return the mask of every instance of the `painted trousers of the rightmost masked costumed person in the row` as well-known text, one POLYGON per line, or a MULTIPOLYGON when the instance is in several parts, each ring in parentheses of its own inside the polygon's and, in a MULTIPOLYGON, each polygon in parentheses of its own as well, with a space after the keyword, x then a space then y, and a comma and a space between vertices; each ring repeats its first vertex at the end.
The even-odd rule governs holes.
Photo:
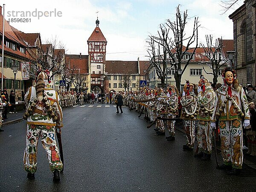
POLYGON ((243 134, 240 120, 220 121, 221 154, 224 164, 242 169, 243 163, 243 134))

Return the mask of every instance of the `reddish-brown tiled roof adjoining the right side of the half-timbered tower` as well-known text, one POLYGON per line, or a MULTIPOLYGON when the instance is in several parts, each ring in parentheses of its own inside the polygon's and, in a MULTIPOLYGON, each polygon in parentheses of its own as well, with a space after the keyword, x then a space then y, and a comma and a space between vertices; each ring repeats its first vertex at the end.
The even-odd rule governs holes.
POLYGON ((138 61, 106 61, 106 74, 138 74, 138 61))

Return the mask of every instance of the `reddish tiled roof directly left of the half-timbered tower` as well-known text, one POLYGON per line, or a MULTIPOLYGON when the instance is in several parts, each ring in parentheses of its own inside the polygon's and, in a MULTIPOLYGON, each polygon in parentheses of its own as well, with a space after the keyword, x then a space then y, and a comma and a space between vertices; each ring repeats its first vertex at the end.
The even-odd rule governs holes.
POLYGON ((81 55, 81 59, 79 58, 80 55, 65 55, 66 61, 70 61, 70 69, 73 68, 73 66, 77 66, 77 70, 75 71, 76 74, 89 74, 88 69, 88 55, 81 55))

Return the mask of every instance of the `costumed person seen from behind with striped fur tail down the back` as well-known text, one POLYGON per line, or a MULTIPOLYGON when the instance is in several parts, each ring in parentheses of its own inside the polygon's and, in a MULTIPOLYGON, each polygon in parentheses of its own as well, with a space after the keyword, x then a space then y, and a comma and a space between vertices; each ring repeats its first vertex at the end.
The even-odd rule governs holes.
POLYGON ((35 75, 36 85, 29 87, 26 93, 26 112, 23 116, 27 119, 26 148, 24 151, 24 166, 29 179, 35 179, 37 171, 37 145, 41 140, 47 151, 50 170, 53 180, 60 180, 59 172, 63 164, 59 158, 59 150, 55 139, 55 126, 61 128, 62 110, 58 93, 49 86, 49 71, 38 70, 35 75), (52 148, 54 148, 54 153, 52 148))

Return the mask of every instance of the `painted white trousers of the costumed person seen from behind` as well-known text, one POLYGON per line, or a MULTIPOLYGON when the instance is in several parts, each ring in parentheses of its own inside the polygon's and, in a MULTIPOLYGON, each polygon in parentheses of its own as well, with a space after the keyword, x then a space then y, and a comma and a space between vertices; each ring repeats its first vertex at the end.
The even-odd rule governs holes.
POLYGON ((26 148, 24 151, 24 166, 27 172, 35 173, 37 170, 37 145, 41 140, 47 152, 50 170, 61 171, 63 164, 60 160, 58 146, 55 140, 55 126, 27 125, 26 148))

